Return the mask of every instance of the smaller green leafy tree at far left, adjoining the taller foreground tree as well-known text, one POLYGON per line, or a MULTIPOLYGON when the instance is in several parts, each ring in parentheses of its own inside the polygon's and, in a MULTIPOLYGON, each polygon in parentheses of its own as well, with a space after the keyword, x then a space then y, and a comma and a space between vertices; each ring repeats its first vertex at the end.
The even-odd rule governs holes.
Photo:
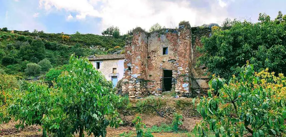
MULTIPOLYGON (((48 88, 48 85, 41 83, 27 83, 25 90, 16 90, 15 100, 8 108, 9 115, 19 122, 16 128, 24 128, 30 125, 42 125, 42 118, 49 111, 56 108, 56 100, 52 100, 56 91, 48 88), (52 103, 52 101, 54 103, 52 103)), ((46 137, 46 128, 43 128, 43 137, 46 137)))

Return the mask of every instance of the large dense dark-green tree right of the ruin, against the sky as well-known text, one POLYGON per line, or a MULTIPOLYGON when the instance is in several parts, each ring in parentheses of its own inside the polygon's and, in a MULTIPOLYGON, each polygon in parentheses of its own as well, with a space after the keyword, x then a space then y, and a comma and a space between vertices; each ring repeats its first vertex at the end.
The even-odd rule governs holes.
POLYGON ((269 68, 286 73, 285 21, 277 24, 265 14, 259 15, 259 21, 233 21, 228 30, 216 30, 211 37, 202 38, 203 46, 197 46, 202 56, 197 63, 205 64, 208 72, 226 80, 239 73, 246 60, 257 66, 255 71, 269 68))

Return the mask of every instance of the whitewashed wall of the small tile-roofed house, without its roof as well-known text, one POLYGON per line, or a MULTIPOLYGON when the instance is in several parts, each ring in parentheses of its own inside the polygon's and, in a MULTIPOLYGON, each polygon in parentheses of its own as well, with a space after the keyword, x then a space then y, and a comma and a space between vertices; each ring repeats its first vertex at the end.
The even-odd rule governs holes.
POLYGON ((118 81, 123 78, 124 73, 124 59, 121 60, 102 60, 102 61, 90 61, 94 68, 96 68, 96 62, 99 62, 99 71, 105 76, 105 78, 111 81, 111 76, 117 76, 118 81), (113 68, 116 68, 116 73, 113 74, 113 68))

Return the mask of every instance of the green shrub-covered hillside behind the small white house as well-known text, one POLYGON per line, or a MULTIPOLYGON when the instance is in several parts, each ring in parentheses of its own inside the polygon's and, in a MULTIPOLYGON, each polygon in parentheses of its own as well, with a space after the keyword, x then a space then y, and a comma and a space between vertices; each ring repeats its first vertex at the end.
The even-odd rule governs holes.
POLYGON ((77 56, 89 56, 122 50, 124 40, 125 36, 114 38, 94 34, 49 34, 16 30, 12 33, 3 28, 0 30, 0 71, 24 78, 36 76, 52 67, 67 64, 73 53, 77 56), (48 68, 39 64, 44 59, 46 60, 42 65, 48 68), (33 63, 29 65, 32 67, 31 72, 36 71, 33 74, 24 73, 29 63, 33 63))

